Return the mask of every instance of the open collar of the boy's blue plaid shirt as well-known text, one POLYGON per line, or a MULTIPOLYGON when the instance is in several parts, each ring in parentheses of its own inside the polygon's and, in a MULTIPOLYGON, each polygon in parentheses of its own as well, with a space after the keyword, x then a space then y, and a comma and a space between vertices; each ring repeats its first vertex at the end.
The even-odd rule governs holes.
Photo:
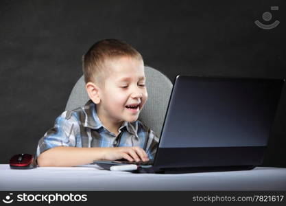
MULTIPOLYGON (((101 127, 104 127, 104 125, 100 121, 99 117, 97 116, 96 104, 93 103, 92 100, 88 100, 88 102, 86 102, 86 104, 84 105, 84 112, 86 113, 86 117, 85 117, 85 121, 84 121, 85 127, 92 128, 95 130, 97 130, 101 127)), ((138 122, 137 121, 135 121, 135 122, 124 121, 121 124, 119 130, 121 130, 124 127, 126 127, 126 130, 128 130, 129 133, 138 137, 138 135, 137 135, 138 122)))

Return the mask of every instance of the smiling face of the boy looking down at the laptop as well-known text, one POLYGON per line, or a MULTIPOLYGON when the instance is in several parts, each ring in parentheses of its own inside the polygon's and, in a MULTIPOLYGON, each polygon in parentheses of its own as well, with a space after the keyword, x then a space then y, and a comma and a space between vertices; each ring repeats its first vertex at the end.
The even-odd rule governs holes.
POLYGON ((136 121, 147 101, 143 61, 121 57, 107 60, 105 66, 109 73, 99 92, 99 113, 111 122, 136 121))

